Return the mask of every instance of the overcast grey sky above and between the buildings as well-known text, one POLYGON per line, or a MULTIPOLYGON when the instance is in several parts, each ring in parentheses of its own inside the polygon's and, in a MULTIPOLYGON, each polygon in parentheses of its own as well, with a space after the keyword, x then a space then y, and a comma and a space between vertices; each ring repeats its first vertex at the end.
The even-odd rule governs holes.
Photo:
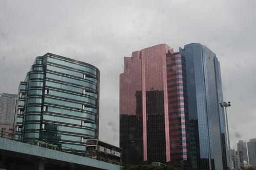
POLYGON ((119 145, 123 57, 160 43, 217 54, 231 146, 256 138, 256 0, 0 0, 0 93, 46 52, 100 70, 99 139, 119 145))

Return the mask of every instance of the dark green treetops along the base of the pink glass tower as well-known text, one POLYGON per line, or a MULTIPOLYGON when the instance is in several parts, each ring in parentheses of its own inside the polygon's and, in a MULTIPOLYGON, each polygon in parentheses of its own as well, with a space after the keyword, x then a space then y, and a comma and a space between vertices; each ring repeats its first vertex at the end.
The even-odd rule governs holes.
POLYGON ((123 170, 182 170, 172 166, 127 165, 123 170))

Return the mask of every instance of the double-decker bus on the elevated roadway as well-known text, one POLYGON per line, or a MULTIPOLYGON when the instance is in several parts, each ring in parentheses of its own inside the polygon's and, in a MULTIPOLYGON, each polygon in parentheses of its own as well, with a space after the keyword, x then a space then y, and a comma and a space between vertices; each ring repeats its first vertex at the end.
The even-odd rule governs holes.
POLYGON ((86 141, 85 156, 117 165, 122 163, 122 149, 98 139, 86 141))

